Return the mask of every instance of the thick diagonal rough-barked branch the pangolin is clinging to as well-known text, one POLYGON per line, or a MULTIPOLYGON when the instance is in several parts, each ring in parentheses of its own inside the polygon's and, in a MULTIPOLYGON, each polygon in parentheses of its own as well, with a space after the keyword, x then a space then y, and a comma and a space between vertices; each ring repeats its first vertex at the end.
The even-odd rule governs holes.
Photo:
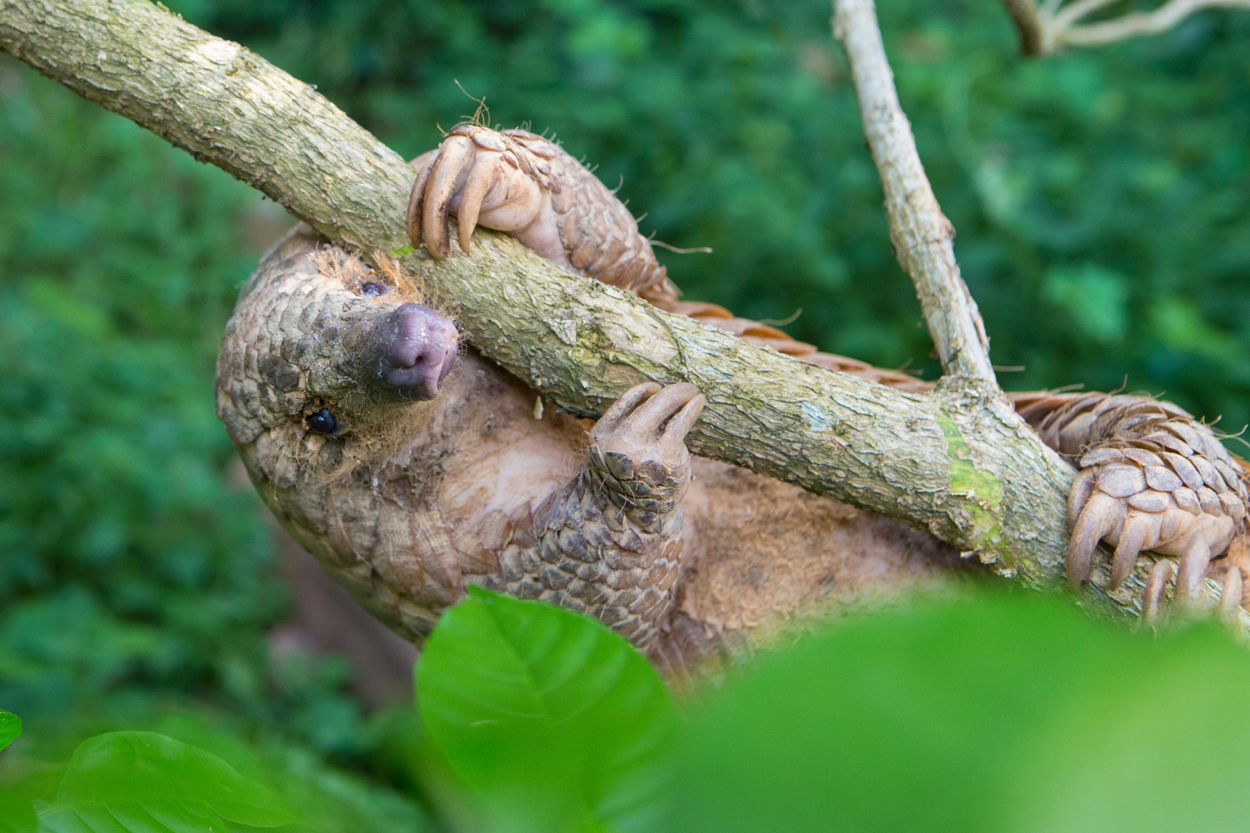
MULTIPOLYGON (((0 49, 331 240, 365 252, 406 244, 404 160, 311 86, 162 7, 0 0, 0 49)), ((598 415, 639 381, 692 382, 708 397, 695 453, 901 518, 1030 586, 1058 583, 1072 471, 996 392, 948 380, 930 396, 899 393, 664 313, 500 236, 475 241, 445 261, 410 257, 474 346, 560 407, 598 415)), ((1089 599, 1134 611, 1148 567, 1089 599)))

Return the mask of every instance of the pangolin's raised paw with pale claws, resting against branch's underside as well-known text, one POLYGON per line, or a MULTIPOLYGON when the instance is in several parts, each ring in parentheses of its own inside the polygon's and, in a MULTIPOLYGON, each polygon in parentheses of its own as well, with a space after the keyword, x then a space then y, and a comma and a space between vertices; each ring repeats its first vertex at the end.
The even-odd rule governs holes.
POLYGON ((690 480, 686 433, 704 407, 694 385, 638 385, 590 432, 588 471, 595 491, 618 508, 662 515, 690 480))

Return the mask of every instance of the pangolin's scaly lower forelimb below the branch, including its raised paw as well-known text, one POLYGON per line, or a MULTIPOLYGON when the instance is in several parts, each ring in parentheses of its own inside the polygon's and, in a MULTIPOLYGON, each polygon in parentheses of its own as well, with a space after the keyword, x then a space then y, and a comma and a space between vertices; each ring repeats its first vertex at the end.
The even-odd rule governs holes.
POLYGON ((581 471, 510 525, 504 588, 589 613, 650 648, 672 607, 685 438, 702 406, 692 385, 626 391, 591 430, 581 471))

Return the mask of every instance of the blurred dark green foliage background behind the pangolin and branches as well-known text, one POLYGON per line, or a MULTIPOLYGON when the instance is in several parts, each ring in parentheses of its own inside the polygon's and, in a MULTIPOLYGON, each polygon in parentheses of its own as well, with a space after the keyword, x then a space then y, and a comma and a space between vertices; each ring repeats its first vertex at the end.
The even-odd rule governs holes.
MULTIPOLYGON (((471 114, 599 164, 686 297, 932 377, 818 0, 186 0, 405 155, 471 114)), ((1250 420, 1250 14, 1021 60, 1001 7, 881 4, 1009 388, 1081 382, 1250 420)), ((212 413, 272 204, 0 59, 0 707, 28 734, 156 711, 396 778, 289 601, 212 413)), ((370 731, 374 727, 374 731, 370 731)), ((126 728, 142 728, 132 722, 126 728)), ((66 729, 69 731, 69 729, 66 729)), ((81 739, 79 736, 76 739, 81 739)))

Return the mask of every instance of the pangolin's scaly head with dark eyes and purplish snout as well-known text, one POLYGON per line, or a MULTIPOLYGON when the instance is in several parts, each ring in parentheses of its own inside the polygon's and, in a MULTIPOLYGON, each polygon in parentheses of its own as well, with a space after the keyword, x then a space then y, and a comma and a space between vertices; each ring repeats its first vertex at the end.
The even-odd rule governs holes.
POLYGON ((254 477, 292 486, 402 452, 459 346, 452 322, 421 301, 394 264, 365 266, 305 226, 261 260, 226 325, 216 382, 218 416, 254 477))

